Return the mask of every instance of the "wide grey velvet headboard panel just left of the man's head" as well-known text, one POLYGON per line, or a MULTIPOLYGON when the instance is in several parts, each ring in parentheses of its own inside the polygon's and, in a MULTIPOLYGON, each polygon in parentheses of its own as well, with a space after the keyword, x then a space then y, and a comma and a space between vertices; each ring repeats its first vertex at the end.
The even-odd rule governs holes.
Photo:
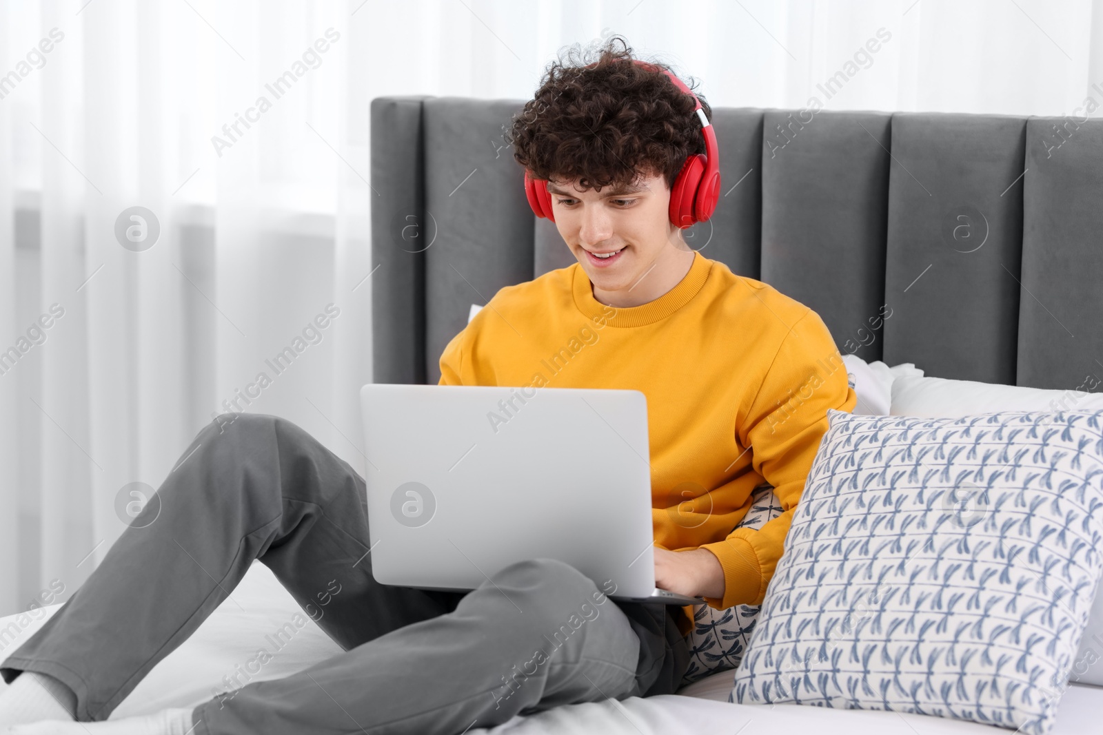
POLYGON ((502 140, 517 100, 431 98, 425 102, 426 216, 437 241, 426 251, 426 379, 468 322, 471 304, 533 278, 533 214, 524 171, 502 140))

